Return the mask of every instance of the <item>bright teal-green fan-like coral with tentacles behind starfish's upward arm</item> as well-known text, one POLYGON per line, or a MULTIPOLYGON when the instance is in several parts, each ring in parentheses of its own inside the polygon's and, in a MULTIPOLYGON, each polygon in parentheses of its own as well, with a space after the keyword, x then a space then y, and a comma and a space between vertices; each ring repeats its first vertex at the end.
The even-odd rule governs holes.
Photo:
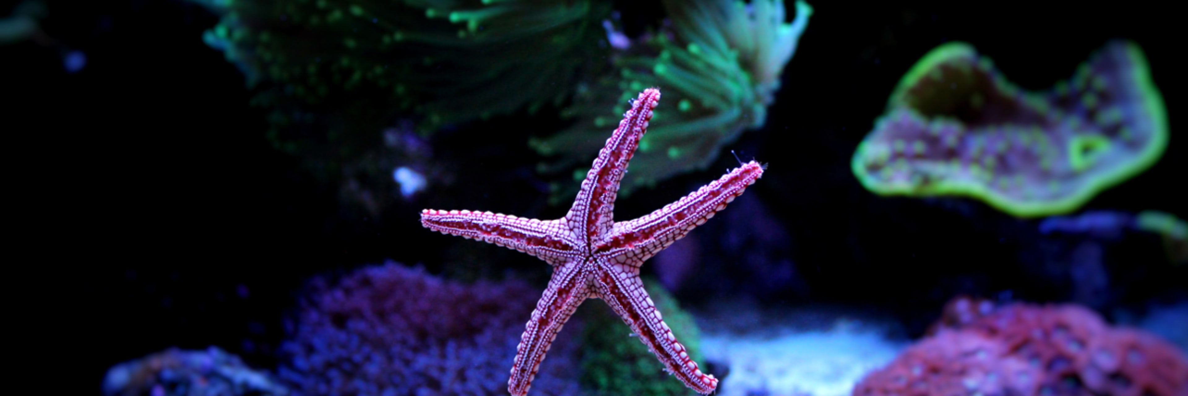
MULTIPOLYGON (((615 50, 615 73, 579 87, 563 115, 573 127, 532 146, 555 159, 544 172, 588 165, 617 114, 647 87, 664 89, 652 126, 640 139, 623 193, 651 186, 677 174, 703 169, 719 149, 747 128, 763 126, 767 106, 779 89, 779 75, 796 52, 813 8, 796 2, 796 19, 785 23, 781 0, 663 1, 669 24, 628 48, 615 50), (613 111, 612 111, 613 109, 613 111)), ((584 177, 577 171, 576 180, 584 177)), ((565 194, 557 194, 565 195, 565 194)))

